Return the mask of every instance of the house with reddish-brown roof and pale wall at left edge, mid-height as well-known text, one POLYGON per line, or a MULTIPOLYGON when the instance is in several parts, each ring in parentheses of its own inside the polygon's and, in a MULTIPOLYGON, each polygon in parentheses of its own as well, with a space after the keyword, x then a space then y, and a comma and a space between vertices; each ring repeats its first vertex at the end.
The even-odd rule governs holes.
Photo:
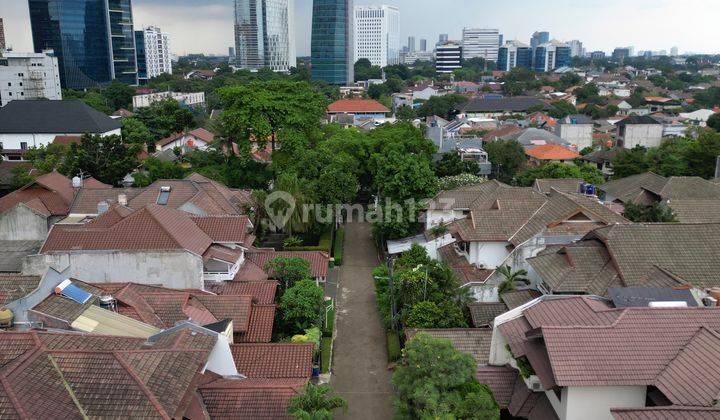
POLYGON ((42 241, 50 227, 68 215, 77 194, 100 190, 112 187, 94 178, 71 181, 54 171, 41 175, 0 198, 0 240, 42 241))

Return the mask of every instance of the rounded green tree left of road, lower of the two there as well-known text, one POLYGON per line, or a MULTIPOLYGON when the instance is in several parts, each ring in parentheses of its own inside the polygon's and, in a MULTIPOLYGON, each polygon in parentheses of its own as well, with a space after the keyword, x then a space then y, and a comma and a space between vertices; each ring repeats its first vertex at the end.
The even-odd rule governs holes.
POLYGON ((325 292, 314 280, 300 280, 282 294, 278 311, 286 334, 321 325, 325 292))

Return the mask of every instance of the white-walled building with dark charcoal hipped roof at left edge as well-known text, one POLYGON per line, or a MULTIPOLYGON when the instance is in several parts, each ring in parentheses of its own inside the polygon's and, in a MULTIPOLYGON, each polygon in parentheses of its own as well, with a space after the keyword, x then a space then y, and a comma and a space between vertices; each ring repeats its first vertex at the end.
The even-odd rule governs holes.
POLYGON ((80 100, 12 101, 0 109, 0 150, 7 155, 47 146, 56 136, 119 136, 120 127, 120 120, 80 100))

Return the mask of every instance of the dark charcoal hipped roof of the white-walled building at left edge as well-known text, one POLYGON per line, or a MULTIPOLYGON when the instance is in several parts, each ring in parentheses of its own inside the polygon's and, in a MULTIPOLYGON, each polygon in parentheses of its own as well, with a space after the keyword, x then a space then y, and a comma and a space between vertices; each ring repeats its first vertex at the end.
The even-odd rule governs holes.
POLYGON ((120 119, 110 118, 80 100, 12 101, 0 108, 3 134, 99 134, 121 126, 120 119))

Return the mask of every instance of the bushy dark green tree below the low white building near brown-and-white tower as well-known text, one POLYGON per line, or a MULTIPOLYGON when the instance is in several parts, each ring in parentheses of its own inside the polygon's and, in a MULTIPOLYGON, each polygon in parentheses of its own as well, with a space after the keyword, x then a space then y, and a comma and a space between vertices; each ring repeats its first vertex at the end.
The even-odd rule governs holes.
POLYGON ((172 133, 182 132, 193 126, 193 114, 174 99, 164 99, 149 107, 135 110, 135 116, 150 130, 153 139, 162 139, 172 133))

